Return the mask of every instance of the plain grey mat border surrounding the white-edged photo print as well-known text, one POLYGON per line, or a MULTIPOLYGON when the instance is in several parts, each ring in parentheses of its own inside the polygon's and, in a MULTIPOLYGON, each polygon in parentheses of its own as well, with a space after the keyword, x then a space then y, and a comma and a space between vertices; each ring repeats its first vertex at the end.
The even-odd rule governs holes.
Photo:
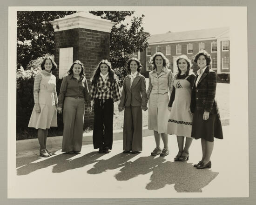
MULTIPOLYGON (((0 7, 0 205, 254 205, 256 204, 256 3, 254 0, 4 0, 0 7), (7 199, 7 39, 9 6, 247 6, 249 198, 7 199)), ((15 108, 13 108, 15 109, 15 108)), ((241 153, 243 154, 243 153, 241 153)), ((239 166, 239 162, 237 162, 239 166)), ((241 168, 241 167, 240 167, 241 168)))

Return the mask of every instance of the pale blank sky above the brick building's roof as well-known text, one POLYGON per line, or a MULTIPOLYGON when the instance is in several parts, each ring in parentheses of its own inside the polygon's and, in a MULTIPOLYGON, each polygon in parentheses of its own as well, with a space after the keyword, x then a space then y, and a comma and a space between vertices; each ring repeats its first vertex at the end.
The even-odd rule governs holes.
MULTIPOLYGON (((135 7, 134 16, 144 14, 143 27, 150 34, 230 26, 235 7, 135 7), (232 13, 232 15, 229 15, 232 13)), ((127 9, 128 10, 128 9, 127 9)), ((127 18, 129 23, 132 17, 127 18)))

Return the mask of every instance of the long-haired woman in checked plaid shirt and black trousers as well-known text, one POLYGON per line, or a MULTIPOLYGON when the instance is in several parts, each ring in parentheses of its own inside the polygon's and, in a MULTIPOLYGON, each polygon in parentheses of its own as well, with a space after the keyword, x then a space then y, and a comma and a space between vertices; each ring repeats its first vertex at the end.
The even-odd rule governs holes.
POLYGON ((99 153, 109 153, 113 144, 113 116, 114 102, 120 100, 121 95, 115 73, 108 60, 101 60, 91 87, 91 105, 94 104, 94 149, 99 153))

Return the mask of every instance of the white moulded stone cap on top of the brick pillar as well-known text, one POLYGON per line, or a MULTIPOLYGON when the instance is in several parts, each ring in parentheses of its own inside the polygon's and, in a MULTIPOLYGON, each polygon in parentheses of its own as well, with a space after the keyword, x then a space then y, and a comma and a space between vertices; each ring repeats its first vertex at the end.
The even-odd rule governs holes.
POLYGON ((112 27, 115 25, 111 20, 101 19, 100 16, 86 11, 77 11, 63 18, 50 21, 50 23, 54 27, 54 32, 74 28, 85 28, 110 33, 112 27))

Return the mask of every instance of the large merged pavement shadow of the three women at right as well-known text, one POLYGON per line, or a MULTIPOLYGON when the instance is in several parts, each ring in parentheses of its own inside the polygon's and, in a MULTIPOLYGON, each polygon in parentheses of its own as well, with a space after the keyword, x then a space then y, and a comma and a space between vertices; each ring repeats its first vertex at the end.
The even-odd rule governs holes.
POLYGON ((209 169, 196 169, 192 163, 170 162, 162 157, 152 159, 151 156, 125 164, 120 171, 115 175, 120 181, 152 172, 151 181, 146 185, 146 189, 157 190, 165 185, 174 184, 176 192, 202 192, 202 188, 219 174, 209 169))

